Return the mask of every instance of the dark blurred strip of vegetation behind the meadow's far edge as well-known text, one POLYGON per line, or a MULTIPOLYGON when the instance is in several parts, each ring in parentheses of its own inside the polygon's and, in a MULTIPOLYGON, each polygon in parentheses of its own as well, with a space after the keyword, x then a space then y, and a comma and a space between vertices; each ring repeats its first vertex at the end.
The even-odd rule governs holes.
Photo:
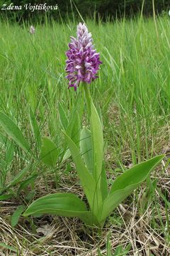
POLYGON ((45 17, 55 19, 57 21, 67 20, 68 18, 78 18, 79 13, 84 17, 95 18, 100 17, 103 21, 114 18, 126 18, 136 16, 142 10, 145 16, 153 15, 153 7, 155 14, 162 14, 169 9, 169 0, 0 0, 0 6, 3 4, 13 3, 13 5, 25 4, 44 4, 50 6, 58 5, 58 11, 28 11, 25 8, 19 11, 1 11, 1 17, 6 17, 11 21, 38 21, 44 22, 45 17), (77 11, 79 10, 79 11, 77 11))

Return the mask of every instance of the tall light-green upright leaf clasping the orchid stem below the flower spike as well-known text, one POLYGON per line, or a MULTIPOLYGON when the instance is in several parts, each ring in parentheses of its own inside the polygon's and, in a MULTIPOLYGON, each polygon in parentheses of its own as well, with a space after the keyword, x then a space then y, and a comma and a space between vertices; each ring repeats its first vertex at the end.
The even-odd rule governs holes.
POLYGON ((94 156, 94 179, 101 187, 101 169, 103 163, 103 132, 100 118, 91 100, 91 141, 94 156))

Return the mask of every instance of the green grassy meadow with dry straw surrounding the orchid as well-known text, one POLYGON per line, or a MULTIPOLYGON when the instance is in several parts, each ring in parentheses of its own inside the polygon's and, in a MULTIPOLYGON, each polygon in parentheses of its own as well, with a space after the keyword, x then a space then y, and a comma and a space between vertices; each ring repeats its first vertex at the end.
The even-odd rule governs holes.
MULTIPOLYGON (((170 20, 164 16, 86 24, 103 61, 99 78, 90 87, 103 117, 106 166, 112 182, 132 164, 170 151, 170 20)), ((56 191, 83 196, 72 159, 62 161, 66 147, 58 114, 59 102, 68 115, 77 97, 81 107, 84 105, 81 87, 77 93, 67 90, 64 78, 64 53, 76 26, 72 22, 47 23, 35 26, 35 35, 30 35, 26 24, 0 22, 0 110, 18 124, 38 156, 31 108, 41 136, 49 136, 59 150, 55 168, 31 160, 26 177, 35 175, 35 185, 21 187, 18 193, 21 183, 7 188, 8 183, 27 166, 30 156, 14 144, 13 158, 6 165, 6 156, 10 159, 11 153, 1 129, 1 195, 13 196, 0 203, 0 254, 168 256, 168 154, 152 173, 149 191, 144 184, 129 196, 108 218, 103 230, 91 231, 78 219, 51 215, 21 217, 15 228, 11 226, 14 210, 33 198, 56 191)))

